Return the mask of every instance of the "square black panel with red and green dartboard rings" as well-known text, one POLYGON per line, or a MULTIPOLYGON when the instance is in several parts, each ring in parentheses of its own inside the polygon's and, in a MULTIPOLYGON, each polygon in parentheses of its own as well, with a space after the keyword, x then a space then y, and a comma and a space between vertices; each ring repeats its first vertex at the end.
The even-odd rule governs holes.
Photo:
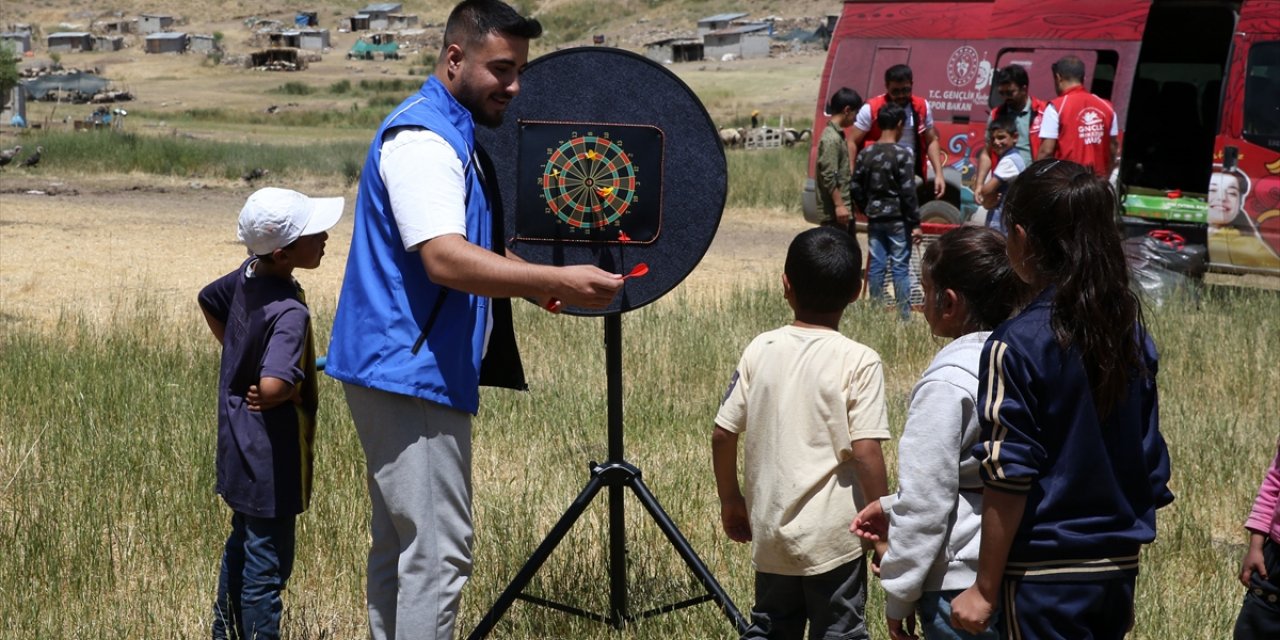
POLYGON ((515 239, 654 242, 662 142, 655 127, 520 122, 515 239))

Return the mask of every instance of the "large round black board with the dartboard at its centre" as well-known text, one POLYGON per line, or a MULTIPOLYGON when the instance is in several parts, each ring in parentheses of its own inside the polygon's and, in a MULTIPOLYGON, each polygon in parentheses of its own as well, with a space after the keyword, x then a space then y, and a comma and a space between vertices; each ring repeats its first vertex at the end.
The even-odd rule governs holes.
POLYGON ((475 137, 508 251, 616 274, 646 266, 609 307, 566 314, 612 315, 660 298, 719 227, 728 170, 716 125, 680 78, 641 55, 599 46, 538 58, 502 124, 475 137))

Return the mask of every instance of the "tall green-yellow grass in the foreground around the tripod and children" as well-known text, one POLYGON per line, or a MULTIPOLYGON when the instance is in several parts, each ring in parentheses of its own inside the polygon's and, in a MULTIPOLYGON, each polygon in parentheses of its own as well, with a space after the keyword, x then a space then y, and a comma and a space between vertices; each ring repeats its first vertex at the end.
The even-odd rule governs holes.
MULTIPOLYGON (((486 392, 475 424, 476 573, 468 630, 605 458, 602 324, 517 306, 531 393, 486 392)), ((328 311, 317 319, 328 342, 328 311)), ((1134 637, 1228 635, 1240 589, 1240 522, 1275 443, 1280 297, 1211 289, 1149 315, 1164 355, 1162 424, 1178 500, 1144 553, 1134 637), (1194 585, 1192 589, 1190 586, 1194 585)), ((212 494, 216 346, 195 319, 146 300, 106 323, 68 307, 54 329, 0 335, 0 637, 200 637, 210 621, 228 511, 212 494)), ((746 547, 719 531, 708 436, 740 349, 788 314, 768 283, 723 297, 678 292, 623 319, 627 458, 739 607, 750 605, 746 547)), ((887 362, 890 421, 941 342, 855 305, 846 334, 887 362)), ((321 383, 316 498, 298 521, 287 596, 293 639, 364 635, 367 498, 340 389, 321 383)), ((891 467, 895 445, 886 447, 891 467)), ((627 504, 634 611, 696 595, 657 527, 627 504)), ((531 591, 588 609, 608 603, 605 500, 596 500, 531 591)), ((873 628, 883 637, 873 588, 873 628)), ((605 627, 517 603, 495 637, 607 637, 605 627)), ((628 627, 625 637, 731 637, 704 604, 628 627)))

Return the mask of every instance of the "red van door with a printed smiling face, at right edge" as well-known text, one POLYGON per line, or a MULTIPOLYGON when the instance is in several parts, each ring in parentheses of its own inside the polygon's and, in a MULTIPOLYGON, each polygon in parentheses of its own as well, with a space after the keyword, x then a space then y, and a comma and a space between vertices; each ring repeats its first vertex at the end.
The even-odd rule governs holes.
POLYGON ((1210 265, 1280 276, 1280 1, 1242 8, 1213 160, 1210 265))

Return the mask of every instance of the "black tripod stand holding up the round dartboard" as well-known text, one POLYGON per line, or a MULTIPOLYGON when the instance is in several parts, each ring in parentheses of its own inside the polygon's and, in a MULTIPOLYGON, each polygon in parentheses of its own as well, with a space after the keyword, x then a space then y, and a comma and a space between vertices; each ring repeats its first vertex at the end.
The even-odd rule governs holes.
POLYGON ((645 486, 644 480, 640 479, 640 468, 622 458, 622 316, 620 314, 604 316, 604 360, 608 376, 609 460, 603 463, 591 462, 591 479, 586 483, 586 486, 577 494, 577 498, 573 499, 573 503, 570 504, 564 515, 556 522, 556 526, 547 534, 543 543, 538 545, 538 549, 534 550, 534 554, 530 556, 525 566, 516 573, 516 577, 507 585, 507 589, 502 591, 493 608, 489 609, 489 613, 480 621, 475 631, 467 636, 467 640, 486 637, 489 631, 498 623, 498 620, 502 618, 517 599, 603 622, 613 628, 622 628, 627 622, 636 620, 669 613, 701 604, 707 600, 716 600, 716 604, 719 605, 721 611, 739 632, 746 630, 746 621, 739 613, 737 608, 733 607, 733 602, 730 600, 719 582, 708 571, 707 564, 698 557, 694 548, 690 547, 689 540, 680 532, 676 524, 671 521, 667 512, 658 504, 658 499, 645 486), (609 488, 609 613, 591 613, 567 604, 526 595, 524 593, 525 586, 538 573, 538 570, 541 568, 547 558, 550 557, 556 547, 564 539, 568 530, 604 486, 609 488), (707 590, 705 594, 646 612, 630 613, 630 608, 627 607, 626 521, 623 520, 622 502, 625 488, 631 488, 631 492, 640 499, 645 511, 658 524, 662 532, 666 534, 667 540, 671 541, 676 552, 680 553, 680 557, 684 558, 685 564, 689 566, 689 570, 701 582, 707 590))

